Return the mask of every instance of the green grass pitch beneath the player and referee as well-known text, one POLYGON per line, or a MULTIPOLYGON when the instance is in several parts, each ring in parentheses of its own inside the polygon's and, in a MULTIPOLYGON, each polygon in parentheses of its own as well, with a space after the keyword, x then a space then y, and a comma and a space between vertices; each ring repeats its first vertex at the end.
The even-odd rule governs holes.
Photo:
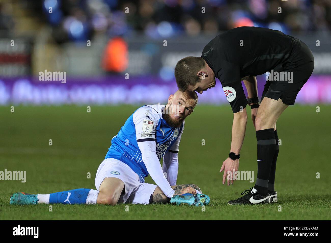
MULTIPOLYGON (((199 105, 187 118, 179 152, 177 184, 196 183, 211 197, 205 208, 173 205, 10 206, 16 191, 52 193, 95 189, 97 168, 110 140, 135 106, 0 106, 0 170, 26 170, 25 183, 0 181, 0 220, 330 220, 331 106, 290 106, 277 123, 282 140, 277 162, 279 202, 231 206, 230 199, 254 186, 222 185, 219 169, 228 156, 232 112, 229 105, 199 105), (53 145, 49 146, 49 139, 53 145), (202 145, 202 140, 206 145, 202 145), (87 179, 87 173, 91 179, 87 179), (320 179, 316 179, 316 173, 320 179), (281 212, 279 212, 281 205, 281 212), (128 207, 126 207, 128 206, 128 207), (125 210, 128 209, 128 212, 125 210)), ((250 111, 248 111, 250 112, 250 111)), ((254 170, 256 137, 248 120, 240 170, 254 170)), ((146 178, 146 182, 152 182, 146 178)))

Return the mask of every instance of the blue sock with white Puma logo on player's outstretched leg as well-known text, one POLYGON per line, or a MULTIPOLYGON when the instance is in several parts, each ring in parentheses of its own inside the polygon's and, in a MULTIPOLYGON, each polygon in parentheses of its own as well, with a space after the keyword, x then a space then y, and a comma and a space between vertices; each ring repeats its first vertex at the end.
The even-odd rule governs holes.
POLYGON ((49 194, 49 203, 85 204, 91 189, 79 188, 49 194))

